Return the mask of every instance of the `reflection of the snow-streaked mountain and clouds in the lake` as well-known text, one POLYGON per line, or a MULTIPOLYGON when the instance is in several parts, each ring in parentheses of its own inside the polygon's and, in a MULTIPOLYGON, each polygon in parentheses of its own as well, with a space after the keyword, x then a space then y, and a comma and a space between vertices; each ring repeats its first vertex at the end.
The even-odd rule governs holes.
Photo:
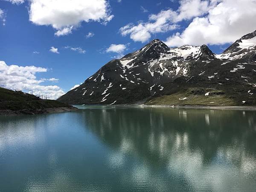
POLYGON ((131 169, 130 179, 138 177, 157 189, 160 183, 166 187, 155 174, 161 170, 173 178, 174 182, 168 183, 172 189, 179 189, 176 180, 186 183, 185 189, 256 189, 256 184, 250 183, 256 181, 255 111, 87 110, 83 112, 85 127, 118 151, 110 155, 109 166, 127 166, 130 162, 125 155, 142 162, 131 169))

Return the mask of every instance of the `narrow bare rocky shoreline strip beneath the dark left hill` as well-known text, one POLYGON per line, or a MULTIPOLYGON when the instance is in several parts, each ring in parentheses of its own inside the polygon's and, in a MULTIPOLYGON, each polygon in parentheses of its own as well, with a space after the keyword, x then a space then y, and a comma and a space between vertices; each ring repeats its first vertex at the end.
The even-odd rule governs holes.
POLYGON ((76 111, 78 108, 70 106, 70 107, 58 107, 58 108, 45 108, 45 109, 35 109, 35 110, 0 110, 0 116, 6 115, 37 115, 37 114, 45 114, 45 113, 62 113, 62 112, 70 112, 76 111))

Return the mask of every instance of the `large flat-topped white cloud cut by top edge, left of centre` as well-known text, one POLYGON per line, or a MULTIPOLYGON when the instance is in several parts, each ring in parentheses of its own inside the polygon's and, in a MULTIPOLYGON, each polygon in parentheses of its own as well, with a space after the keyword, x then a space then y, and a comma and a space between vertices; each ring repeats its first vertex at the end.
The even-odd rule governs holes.
POLYGON ((113 15, 107 0, 29 0, 29 20, 51 25, 55 35, 68 35, 81 22, 108 23, 113 15))

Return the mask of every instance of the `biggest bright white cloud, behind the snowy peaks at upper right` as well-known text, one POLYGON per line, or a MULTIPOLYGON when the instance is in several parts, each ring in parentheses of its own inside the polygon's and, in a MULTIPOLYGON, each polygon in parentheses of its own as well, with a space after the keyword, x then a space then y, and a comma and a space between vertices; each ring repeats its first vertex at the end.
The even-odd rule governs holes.
POLYGON ((204 17, 195 17, 182 33, 167 38, 166 44, 175 47, 233 43, 256 30, 256 0, 212 0, 207 12, 204 17))

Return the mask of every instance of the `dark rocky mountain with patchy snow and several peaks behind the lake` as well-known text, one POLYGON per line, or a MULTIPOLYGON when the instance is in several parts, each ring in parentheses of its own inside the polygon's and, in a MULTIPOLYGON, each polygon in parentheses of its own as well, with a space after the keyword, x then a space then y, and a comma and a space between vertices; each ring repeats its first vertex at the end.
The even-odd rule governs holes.
POLYGON ((58 101, 68 104, 256 105, 256 32, 222 54, 159 39, 114 59, 58 101))

